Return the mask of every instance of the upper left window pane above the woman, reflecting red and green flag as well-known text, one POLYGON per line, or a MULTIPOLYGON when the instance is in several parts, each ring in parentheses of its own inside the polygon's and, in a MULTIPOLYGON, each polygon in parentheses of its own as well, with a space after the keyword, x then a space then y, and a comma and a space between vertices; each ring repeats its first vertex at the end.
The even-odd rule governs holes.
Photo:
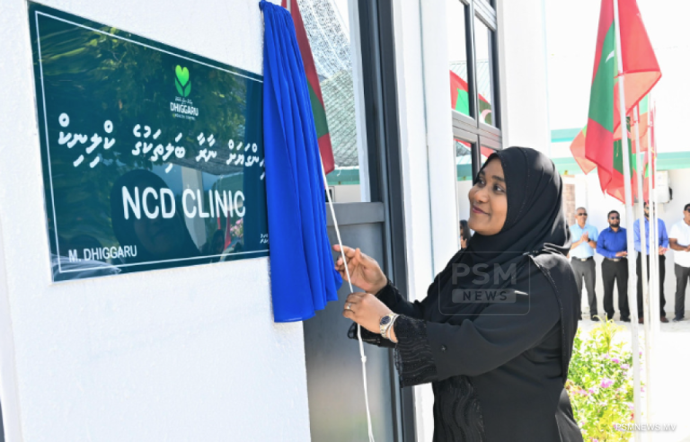
POLYGON ((472 115, 467 86, 467 44, 464 39, 465 8, 460 0, 447 0, 448 62, 450 63, 450 106, 472 115))

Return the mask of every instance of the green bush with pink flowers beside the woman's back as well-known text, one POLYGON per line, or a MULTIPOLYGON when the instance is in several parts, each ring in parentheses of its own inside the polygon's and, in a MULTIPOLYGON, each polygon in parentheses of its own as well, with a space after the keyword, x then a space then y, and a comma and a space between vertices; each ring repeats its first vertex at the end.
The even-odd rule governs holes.
POLYGON ((632 423, 632 353, 615 334, 625 328, 613 321, 597 325, 585 339, 578 330, 566 389, 575 420, 587 441, 627 441, 632 432, 616 424, 632 423))

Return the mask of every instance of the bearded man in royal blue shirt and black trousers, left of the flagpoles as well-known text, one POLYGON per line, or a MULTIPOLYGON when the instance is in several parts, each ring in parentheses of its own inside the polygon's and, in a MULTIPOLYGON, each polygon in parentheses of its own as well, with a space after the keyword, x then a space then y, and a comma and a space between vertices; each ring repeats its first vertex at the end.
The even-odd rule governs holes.
POLYGON ((630 323, 628 306, 628 240, 621 227, 621 214, 616 210, 608 212, 608 228, 601 231, 597 239, 597 253, 604 256, 601 263, 601 278, 604 280, 604 310, 608 319, 614 319, 614 283, 618 286, 618 309, 621 321, 630 323))

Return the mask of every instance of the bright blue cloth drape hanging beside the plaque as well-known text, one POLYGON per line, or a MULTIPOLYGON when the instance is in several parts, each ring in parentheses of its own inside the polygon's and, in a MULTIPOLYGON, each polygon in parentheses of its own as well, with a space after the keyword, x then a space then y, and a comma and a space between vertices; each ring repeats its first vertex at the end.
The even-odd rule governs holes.
POLYGON ((263 142, 270 286, 277 323, 303 321, 338 299, 326 233, 321 157, 305 67, 288 11, 265 0, 263 142))

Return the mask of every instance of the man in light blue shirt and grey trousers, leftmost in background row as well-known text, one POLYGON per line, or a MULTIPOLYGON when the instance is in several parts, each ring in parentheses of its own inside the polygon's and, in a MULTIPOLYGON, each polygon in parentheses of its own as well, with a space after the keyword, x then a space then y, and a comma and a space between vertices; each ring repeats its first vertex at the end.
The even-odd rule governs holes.
MULTIPOLYGON (((575 272, 575 282, 578 283, 578 293, 582 293, 582 279, 587 287, 589 301, 589 317, 598 321, 597 294, 594 292, 597 280, 597 267, 594 263, 594 250, 597 248, 597 228, 587 224, 587 209, 578 208, 575 211, 578 222, 571 225, 571 238, 577 239, 571 245, 571 267, 575 272)), ((582 319, 580 312, 579 319, 582 319)))

